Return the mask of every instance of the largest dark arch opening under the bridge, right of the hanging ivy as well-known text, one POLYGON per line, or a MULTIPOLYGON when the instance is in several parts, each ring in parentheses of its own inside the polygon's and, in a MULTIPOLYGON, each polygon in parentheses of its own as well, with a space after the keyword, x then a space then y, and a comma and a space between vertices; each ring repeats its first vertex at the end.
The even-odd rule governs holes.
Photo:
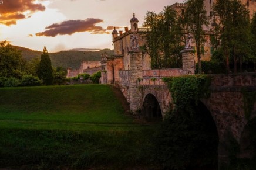
POLYGON ((190 133, 195 133, 193 140, 196 146, 192 151, 190 169, 218 169, 217 126, 204 103, 198 102, 194 112, 190 133))

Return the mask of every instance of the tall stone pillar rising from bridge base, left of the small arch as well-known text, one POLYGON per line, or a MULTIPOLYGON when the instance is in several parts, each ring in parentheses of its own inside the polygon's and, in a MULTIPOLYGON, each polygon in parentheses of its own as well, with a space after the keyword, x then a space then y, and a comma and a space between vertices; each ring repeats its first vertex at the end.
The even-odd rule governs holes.
POLYGON ((142 78, 142 51, 132 50, 130 53, 130 82, 129 82, 129 93, 130 93, 130 110, 136 113, 141 108, 140 106, 140 94, 137 91, 137 80, 142 78))

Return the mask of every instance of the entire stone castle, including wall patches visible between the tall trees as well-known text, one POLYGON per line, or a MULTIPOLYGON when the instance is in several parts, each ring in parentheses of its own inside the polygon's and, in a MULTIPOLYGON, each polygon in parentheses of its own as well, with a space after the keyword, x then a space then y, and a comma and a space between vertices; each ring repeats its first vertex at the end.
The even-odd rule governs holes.
MULTIPOLYGON (((204 6, 207 11, 207 15, 211 15, 213 10, 213 5, 217 0, 205 0, 204 6)), ((256 0, 241 0, 242 4, 246 5, 250 10, 250 17, 256 11, 256 0)), ((186 9, 186 3, 175 3, 170 5, 169 8, 172 8, 177 11, 178 15, 184 13, 186 9)), ((102 57, 102 84, 114 84, 120 81, 120 71, 129 71, 131 70, 132 62, 132 51, 139 50, 139 46, 144 46, 146 44, 146 39, 143 37, 143 34, 150 29, 139 28, 139 20, 136 18, 133 13, 133 17, 130 19, 130 30, 128 27, 124 27, 123 31, 117 32, 114 28, 112 32, 112 42, 114 46, 114 55, 102 57)), ((204 46, 201 47, 201 60, 210 60, 211 55, 213 54, 214 48, 211 45, 210 41, 210 28, 204 26, 206 32, 206 42, 204 46)), ((195 44, 192 43, 192 47, 195 47, 195 44)), ((151 70, 151 59, 149 54, 142 53, 142 61, 137 61, 142 63, 142 70, 151 70)), ((197 62, 197 57, 194 55, 194 61, 197 62)))

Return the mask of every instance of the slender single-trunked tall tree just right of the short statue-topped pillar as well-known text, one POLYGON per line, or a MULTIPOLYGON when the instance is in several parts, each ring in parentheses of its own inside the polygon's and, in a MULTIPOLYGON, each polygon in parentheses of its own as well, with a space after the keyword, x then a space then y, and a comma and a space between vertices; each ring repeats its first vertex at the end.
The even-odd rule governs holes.
POLYGON ((188 33, 193 34, 196 43, 198 73, 201 74, 201 46, 204 46, 205 32, 203 26, 208 26, 209 20, 203 0, 188 0, 185 12, 185 22, 188 33))

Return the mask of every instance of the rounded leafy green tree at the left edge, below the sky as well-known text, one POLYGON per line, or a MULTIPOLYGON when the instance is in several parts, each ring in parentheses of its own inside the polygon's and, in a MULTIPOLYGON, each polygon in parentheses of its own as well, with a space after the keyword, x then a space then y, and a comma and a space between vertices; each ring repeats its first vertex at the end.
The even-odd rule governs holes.
POLYGON ((25 60, 21 51, 13 48, 6 41, 0 42, 0 77, 21 78, 25 72, 25 60))

